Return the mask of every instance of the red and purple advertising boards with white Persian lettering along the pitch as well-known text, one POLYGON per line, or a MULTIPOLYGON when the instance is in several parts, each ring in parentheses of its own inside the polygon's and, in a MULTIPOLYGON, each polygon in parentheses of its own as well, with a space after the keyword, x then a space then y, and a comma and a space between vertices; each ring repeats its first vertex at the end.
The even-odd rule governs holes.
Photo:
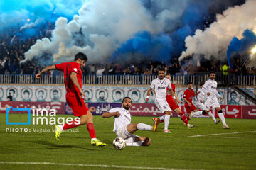
MULTIPOLYGON (((93 115, 102 115, 105 111, 109 111, 111 108, 120 107, 121 103, 86 103, 87 108, 93 115)), ((46 108, 55 109, 57 114, 71 115, 72 110, 65 102, 29 102, 29 101, 0 101, 0 113, 6 113, 6 108, 46 108)), ((235 106, 235 105, 221 105, 225 118, 256 118, 256 106, 235 106)), ((186 113, 184 106, 181 106, 181 110, 186 113)), ((159 116, 161 112, 154 103, 133 103, 130 108, 131 115, 140 116, 159 116)), ((211 109, 215 118, 218 118, 218 114, 215 109, 211 109)), ((25 111, 9 111, 9 113, 26 113, 25 111)), ((33 111, 31 111, 33 113, 33 111)), ((174 117, 178 117, 177 113, 173 113, 174 117)), ((201 118, 208 118, 208 115, 198 116, 201 118)))

